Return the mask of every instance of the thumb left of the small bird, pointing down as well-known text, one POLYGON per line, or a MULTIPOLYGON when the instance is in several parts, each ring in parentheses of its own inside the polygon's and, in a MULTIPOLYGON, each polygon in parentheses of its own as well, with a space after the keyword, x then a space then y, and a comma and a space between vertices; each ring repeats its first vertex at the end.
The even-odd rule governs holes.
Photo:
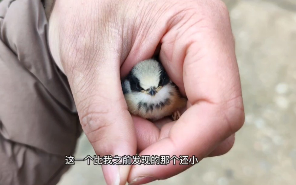
MULTIPOLYGON (((121 90, 119 62, 99 64, 96 71, 73 82, 82 128, 97 155, 134 155, 136 132, 121 90)), ((125 184, 130 166, 103 165, 102 169, 107 184, 125 184)))

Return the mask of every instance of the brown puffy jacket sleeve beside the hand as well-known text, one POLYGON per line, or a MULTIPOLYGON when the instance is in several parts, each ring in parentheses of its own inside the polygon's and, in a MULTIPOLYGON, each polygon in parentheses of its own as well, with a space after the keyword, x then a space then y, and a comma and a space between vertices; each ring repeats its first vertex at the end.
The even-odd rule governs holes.
POLYGON ((81 133, 47 34, 40 0, 0 3, 0 184, 48 184, 81 133))

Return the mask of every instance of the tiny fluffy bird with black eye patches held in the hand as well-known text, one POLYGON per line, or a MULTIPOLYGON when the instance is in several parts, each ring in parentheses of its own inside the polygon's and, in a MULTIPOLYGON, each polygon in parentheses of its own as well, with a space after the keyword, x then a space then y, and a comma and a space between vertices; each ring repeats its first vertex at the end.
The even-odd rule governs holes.
POLYGON ((187 99, 154 59, 136 64, 121 80, 121 86, 129 112, 151 121, 170 115, 177 120, 179 110, 186 106, 187 99))

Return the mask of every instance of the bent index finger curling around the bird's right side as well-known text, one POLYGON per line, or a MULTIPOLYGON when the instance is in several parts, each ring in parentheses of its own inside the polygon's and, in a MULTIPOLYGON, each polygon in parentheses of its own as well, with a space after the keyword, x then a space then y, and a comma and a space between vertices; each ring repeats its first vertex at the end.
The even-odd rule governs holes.
MULTIPOLYGON (((201 160, 242 127, 242 93, 229 16, 225 7, 217 7, 212 10, 215 15, 201 22, 196 23, 195 16, 181 21, 186 30, 182 35, 181 28, 175 26, 179 29, 172 28, 164 36, 160 56, 166 60, 164 65, 178 66, 175 62, 180 64, 184 60, 183 87, 192 106, 172 127, 169 137, 150 145, 140 155, 194 155, 201 160), (170 58, 178 60, 173 62, 170 58)), ((136 165, 129 182, 166 179, 188 167, 173 165, 172 161, 163 166, 136 165)))

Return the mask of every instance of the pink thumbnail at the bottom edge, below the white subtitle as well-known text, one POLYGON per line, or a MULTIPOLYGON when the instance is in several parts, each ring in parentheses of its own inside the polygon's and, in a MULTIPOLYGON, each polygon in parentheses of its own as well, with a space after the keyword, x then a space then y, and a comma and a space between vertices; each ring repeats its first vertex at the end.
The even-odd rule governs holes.
POLYGON ((118 165, 103 165, 102 170, 108 185, 120 184, 120 171, 118 165))

